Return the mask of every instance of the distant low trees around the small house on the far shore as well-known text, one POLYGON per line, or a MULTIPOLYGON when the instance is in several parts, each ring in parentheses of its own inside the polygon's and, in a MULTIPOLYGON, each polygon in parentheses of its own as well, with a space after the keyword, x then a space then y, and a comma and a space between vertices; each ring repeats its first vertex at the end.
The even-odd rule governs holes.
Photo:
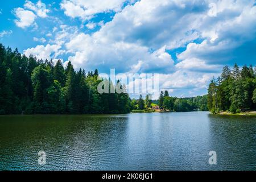
POLYGON ((140 96, 139 100, 132 100, 132 109, 148 110, 152 105, 158 105, 160 110, 187 112, 187 111, 208 111, 207 95, 191 98, 170 97, 168 91, 161 92, 159 99, 152 101, 151 96, 147 95, 145 100, 140 96))

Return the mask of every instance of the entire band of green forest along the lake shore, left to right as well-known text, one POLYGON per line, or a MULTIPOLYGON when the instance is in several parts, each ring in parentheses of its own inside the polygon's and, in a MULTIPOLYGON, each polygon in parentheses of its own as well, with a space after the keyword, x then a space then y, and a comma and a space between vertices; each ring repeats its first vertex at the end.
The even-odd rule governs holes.
MULTIPOLYGON (((102 78, 97 69, 87 73, 84 69, 75 71, 70 61, 64 68, 60 60, 53 63, 32 55, 27 57, 18 49, 13 51, 0 44, 0 114, 121 114, 149 110, 154 105, 161 110, 181 112, 209 108, 213 113, 255 108, 255 72, 251 67, 243 68, 239 74, 235 71, 225 67, 219 78, 222 81, 212 80, 208 96, 177 98, 165 91, 160 93, 158 100, 151 100, 149 94, 144 100, 142 96, 131 100, 126 92, 98 93, 97 86, 102 78), (243 91, 233 90, 233 86, 243 91), (236 100, 240 92, 244 94, 236 100)), ((109 81, 108 84, 111 89, 120 83, 109 81)), ((121 87, 125 90, 125 85, 121 87)))

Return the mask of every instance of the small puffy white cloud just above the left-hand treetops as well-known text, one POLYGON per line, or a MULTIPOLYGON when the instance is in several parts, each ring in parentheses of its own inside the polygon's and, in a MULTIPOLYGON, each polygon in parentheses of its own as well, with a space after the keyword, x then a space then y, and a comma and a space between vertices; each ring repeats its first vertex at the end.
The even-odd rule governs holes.
POLYGON ((30 56, 31 54, 36 56, 38 59, 42 60, 51 60, 52 58, 56 58, 59 55, 59 49, 61 46, 59 45, 50 45, 47 44, 46 46, 39 45, 35 48, 28 48, 24 51, 24 55, 30 56))

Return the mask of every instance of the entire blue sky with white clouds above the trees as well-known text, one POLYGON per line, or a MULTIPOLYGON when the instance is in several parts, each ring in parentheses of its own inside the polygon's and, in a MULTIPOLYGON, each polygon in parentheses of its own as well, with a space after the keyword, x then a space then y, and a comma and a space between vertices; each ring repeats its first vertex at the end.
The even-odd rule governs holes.
POLYGON ((207 94, 234 63, 255 66, 256 2, 2 1, 0 43, 100 73, 159 73, 171 96, 207 94))

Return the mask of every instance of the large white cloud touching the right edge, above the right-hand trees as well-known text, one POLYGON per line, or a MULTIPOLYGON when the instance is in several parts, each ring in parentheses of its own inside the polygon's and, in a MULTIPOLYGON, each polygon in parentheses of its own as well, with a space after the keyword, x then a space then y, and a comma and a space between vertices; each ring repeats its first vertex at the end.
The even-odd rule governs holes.
MULTIPOLYGON (((234 6, 230 6, 234 9, 234 6)), ((235 52, 230 52, 255 40, 256 6, 248 4, 237 7, 237 9, 240 12, 237 16, 232 16, 228 20, 218 20, 212 28, 204 26, 202 36, 205 40, 201 43, 189 43, 186 50, 177 57, 180 60, 195 58, 203 59, 206 63, 222 64, 236 59, 236 56, 241 56, 240 59, 242 59, 242 56, 245 55, 239 56, 235 52)), ((250 49, 250 46, 248 48, 250 49)))

